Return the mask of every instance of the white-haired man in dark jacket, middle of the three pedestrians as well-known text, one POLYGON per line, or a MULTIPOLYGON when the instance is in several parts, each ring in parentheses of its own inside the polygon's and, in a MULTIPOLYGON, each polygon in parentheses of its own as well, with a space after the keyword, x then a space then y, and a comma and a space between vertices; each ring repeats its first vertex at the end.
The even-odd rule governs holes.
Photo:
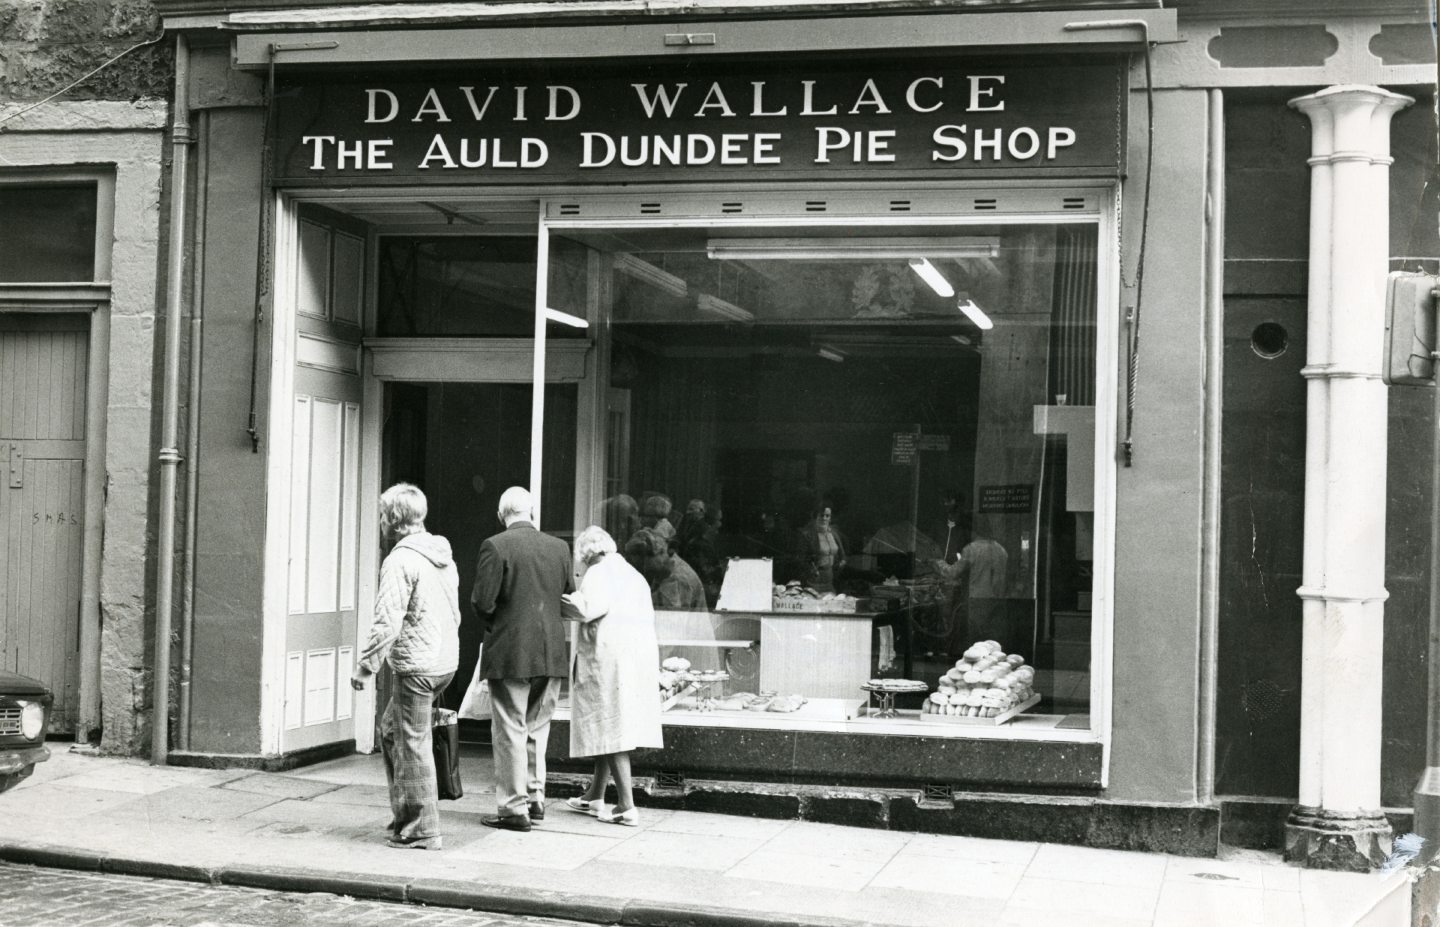
POLYGON ((528 831, 544 818, 544 751, 550 715, 569 671, 560 596, 575 589, 570 548, 534 525, 521 487, 500 497, 505 530, 480 547, 469 596, 485 622, 480 675, 494 705, 495 809, 491 828, 528 831))

